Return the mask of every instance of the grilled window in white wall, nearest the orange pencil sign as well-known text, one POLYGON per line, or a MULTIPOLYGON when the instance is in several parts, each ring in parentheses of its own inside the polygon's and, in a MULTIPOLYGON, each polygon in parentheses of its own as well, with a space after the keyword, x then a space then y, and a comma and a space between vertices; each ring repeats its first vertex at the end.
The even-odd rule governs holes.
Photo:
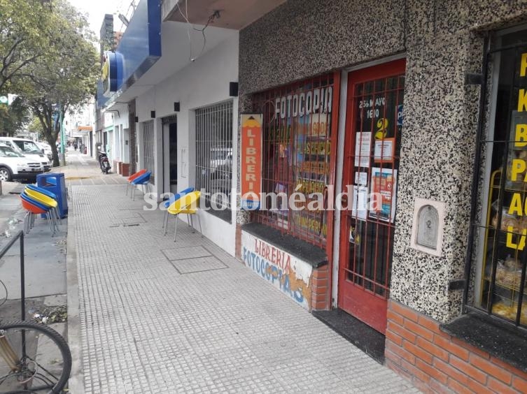
POLYGON ((196 189, 202 192, 209 212, 230 221, 232 101, 199 108, 195 113, 196 189))

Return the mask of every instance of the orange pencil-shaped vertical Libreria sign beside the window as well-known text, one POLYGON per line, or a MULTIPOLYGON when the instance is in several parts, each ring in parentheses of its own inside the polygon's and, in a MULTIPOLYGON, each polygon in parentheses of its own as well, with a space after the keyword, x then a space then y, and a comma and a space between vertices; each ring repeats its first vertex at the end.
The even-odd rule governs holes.
POLYGON ((258 210, 262 192, 262 115, 241 115, 241 209, 258 210))

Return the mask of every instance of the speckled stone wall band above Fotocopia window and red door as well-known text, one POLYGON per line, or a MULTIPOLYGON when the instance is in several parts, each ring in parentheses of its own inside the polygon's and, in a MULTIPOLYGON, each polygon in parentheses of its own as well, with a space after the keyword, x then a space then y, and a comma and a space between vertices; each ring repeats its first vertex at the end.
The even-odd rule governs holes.
POLYGON ((402 52, 405 1, 289 0, 240 31, 240 94, 402 52))

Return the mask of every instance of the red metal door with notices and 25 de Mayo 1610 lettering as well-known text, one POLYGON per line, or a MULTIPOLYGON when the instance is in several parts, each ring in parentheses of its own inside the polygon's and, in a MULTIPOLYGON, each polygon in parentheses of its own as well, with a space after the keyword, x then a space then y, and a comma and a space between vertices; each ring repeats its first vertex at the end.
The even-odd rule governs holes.
POLYGON ((348 74, 341 217, 341 309, 386 332, 405 60, 348 74))

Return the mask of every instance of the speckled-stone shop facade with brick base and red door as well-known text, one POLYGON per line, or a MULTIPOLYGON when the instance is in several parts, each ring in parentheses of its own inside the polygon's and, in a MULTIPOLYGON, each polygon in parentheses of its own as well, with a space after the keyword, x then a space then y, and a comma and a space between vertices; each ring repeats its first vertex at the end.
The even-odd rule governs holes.
POLYGON ((520 1, 289 0, 240 31, 262 190, 349 193, 239 214, 237 256, 381 333, 429 391, 526 388, 526 21, 520 1))

